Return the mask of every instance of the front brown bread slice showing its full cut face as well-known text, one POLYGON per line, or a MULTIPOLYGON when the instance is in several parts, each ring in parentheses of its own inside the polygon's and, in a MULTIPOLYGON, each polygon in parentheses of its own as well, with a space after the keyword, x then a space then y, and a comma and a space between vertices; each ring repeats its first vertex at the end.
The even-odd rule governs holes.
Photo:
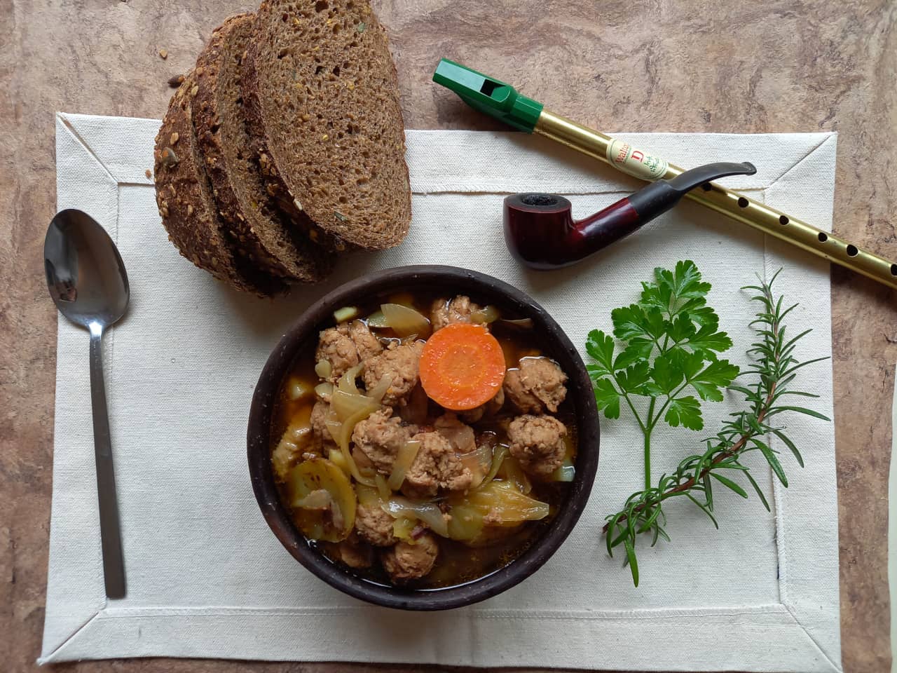
POLYGON ((405 238, 411 189, 396 66, 367 2, 265 0, 243 91, 261 168, 286 201, 360 248, 405 238))

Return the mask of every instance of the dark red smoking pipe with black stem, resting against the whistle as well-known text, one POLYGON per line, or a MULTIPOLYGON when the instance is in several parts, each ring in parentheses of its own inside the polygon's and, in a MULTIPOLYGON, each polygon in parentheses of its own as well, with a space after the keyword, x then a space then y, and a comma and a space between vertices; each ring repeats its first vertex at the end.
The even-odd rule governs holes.
POLYGON ((727 175, 753 175, 753 163, 708 163, 652 182, 582 220, 556 194, 514 194, 504 200, 505 242, 527 267, 569 267, 628 236, 679 203, 693 188, 727 175))

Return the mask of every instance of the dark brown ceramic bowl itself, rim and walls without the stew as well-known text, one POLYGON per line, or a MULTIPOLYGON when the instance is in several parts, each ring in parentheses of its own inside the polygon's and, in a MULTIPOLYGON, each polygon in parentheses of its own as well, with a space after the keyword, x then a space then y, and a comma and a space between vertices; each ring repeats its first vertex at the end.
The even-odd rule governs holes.
POLYGON ((588 501, 598 466, 598 415, 586 368, 570 339, 545 310, 509 284, 457 267, 399 267, 361 276, 327 294, 302 314, 268 358, 252 398, 248 425, 249 475, 258 506, 283 546, 309 571, 357 599, 405 610, 441 610, 488 599, 531 574, 561 546, 588 501), (333 325, 333 311, 380 293, 415 289, 467 294, 519 318, 533 319, 536 337, 570 376, 567 398, 578 424, 576 478, 550 527, 510 564, 475 581, 443 589, 414 590, 362 579, 318 553, 296 529, 283 507, 271 467, 271 421, 284 375, 293 359, 314 347, 318 331, 333 325))

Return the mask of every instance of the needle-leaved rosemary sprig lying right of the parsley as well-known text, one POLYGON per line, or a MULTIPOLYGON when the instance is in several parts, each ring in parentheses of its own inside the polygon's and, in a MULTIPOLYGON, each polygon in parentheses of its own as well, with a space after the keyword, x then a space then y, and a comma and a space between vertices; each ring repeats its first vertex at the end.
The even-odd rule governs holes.
POLYGON ((751 451, 760 451, 769 463, 772 472, 779 478, 783 486, 788 486, 788 477, 778 458, 778 451, 763 441, 762 438, 774 435, 782 441, 794 455, 797 464, 804 467, 797 446, 785 434, 785 428, 772 424, 774 416, 785 412, 811 415, 815 418, 829 420, 823 414, 801 406, 790 406, 781 403, 788 395, 816 398, 809 392, 788 389, 789 384, 797 376, 797 370, 811 363, 826 358, 814 358, 798 362, 794 357, 797 342, 811 330, 786 337, 783 319, 797 307, 797 304, 782 308, 783 296, 776 299, 772 293, 772 284, 779 274, 774 275, 769 283, 748 285, 744 290, 756 293, 751 299, 762 304, 762 310, 756 314, 751 327, 760 339, 751 345, 747 353, 753 356, 753 369, 742 372, 742 376, 753 376, 753 385, 729 385, 745 396, 747 410, 736 412, 723 424, 720 431, 707 439, 706 450, 683 459, 671 474, 665 474, 658 480, 658 485, 631 494, 623 509, 606 518, 604 533, 609 555, 614 555, 614 548, 623 545, 626 552, 625 563, 630 566, 632 581, 639 585, 639 565, 635 553, 636 537, 641 533, 651 536, 651 546, 658 543, 659 538, 669 541, 666 533, 666 511, 664 503, 670 498, 685 497, 703 511, 718 529, 718 521, 713 512, 714 482, 725 486, 743 498, 748 494, 742 485, 733 477, 738 473, 745 476, 747 482, 759 496, 763 506, 770 510, 770 504, 751 475, 750 468, 742 462, 751 451), (724 471, 730 470, 729 476, 724 471))

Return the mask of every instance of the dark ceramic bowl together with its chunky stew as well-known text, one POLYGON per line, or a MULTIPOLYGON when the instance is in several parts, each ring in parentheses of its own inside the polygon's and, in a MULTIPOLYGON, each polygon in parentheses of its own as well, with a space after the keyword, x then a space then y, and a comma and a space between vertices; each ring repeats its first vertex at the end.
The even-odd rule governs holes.
POLYGON ((259 508, 300 564, 356 599, 440 610, 557 551, 591 493, 599 428, 547 311, 492 276, 414 266, 363 275, 296 320, 258 379, 247 443, 259 508), (423 328, 403 322, 414 311, 423 328), (464 362, 469 336, 490 366, 464 362), (462 363, 440 369, 447 348, 462 363))

